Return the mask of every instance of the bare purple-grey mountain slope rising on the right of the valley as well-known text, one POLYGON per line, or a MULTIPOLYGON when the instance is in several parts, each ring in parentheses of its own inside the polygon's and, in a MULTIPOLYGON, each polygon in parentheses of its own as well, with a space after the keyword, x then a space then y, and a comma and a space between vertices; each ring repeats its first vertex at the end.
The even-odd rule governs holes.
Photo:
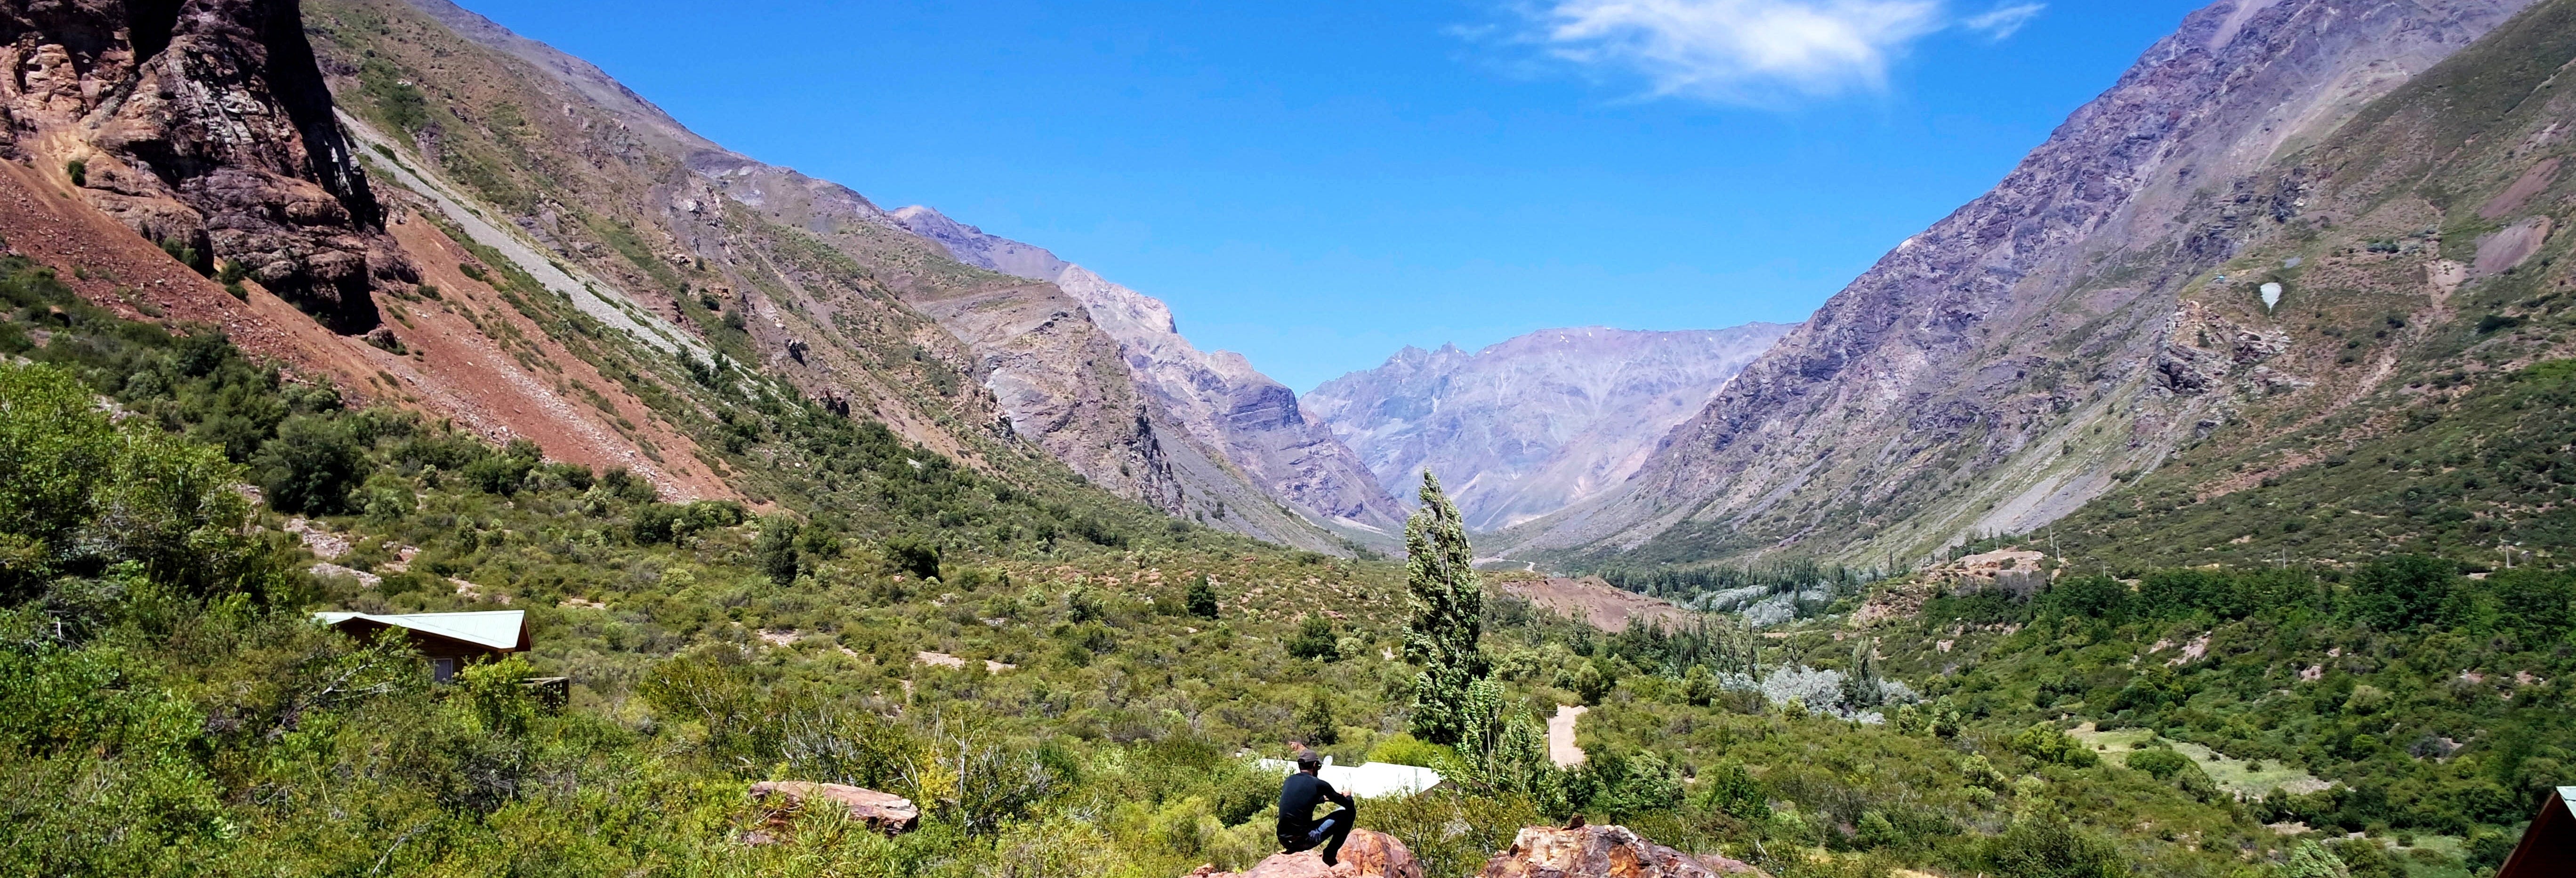
POLYGON ((1561 559, 1901 564, 2040 528, 2213 435, 2303 425, 2272 412, 2375 399, 2419 340, 2383 342, 2375 322, 2439 314, 2447 281, 2303 301, 2295 276, 2342 257, 2329 247, 2352 232, 2331 229, 2367 219, 2419 242, 2367 257, 2424 278, 2434 257, 2416 232, 2460 214, 2329 206, 2321 193, 2347 180, 2318 144, 2522 8, 2231 0, 2187 15, 2002 185, 1749 366, 1638 476, 1510 543, 1561 559), (2262 283, 2282 273, 2290 299, 2272 312, 2262 283))

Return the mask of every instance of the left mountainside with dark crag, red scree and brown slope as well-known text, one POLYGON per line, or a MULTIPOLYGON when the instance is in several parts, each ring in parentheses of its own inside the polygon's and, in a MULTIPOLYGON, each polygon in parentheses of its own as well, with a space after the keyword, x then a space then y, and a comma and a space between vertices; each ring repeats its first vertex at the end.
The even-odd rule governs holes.
POLYGON ((783 397, 1291 546, 1347 551, 1327 512, 1388 523, 1383 497, 1275 502, 1056 283, 958 263, 451 3, 8 3, 0 28, 0 234, 350 402, 670 497, 775 494, 775 417, 747 407, 783 397))

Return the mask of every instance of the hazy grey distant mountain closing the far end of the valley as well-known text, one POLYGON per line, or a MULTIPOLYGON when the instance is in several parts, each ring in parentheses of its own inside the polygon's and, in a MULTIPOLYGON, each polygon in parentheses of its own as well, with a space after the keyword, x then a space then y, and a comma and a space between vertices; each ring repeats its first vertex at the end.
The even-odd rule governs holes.
POLYGON ((1517 525, 1631 474, 1674 425, 1790 327, 1543 330, 1463 353, 1404 348, 1306 394, 1378 484, 1440 476, 1479 530, 1517 525))

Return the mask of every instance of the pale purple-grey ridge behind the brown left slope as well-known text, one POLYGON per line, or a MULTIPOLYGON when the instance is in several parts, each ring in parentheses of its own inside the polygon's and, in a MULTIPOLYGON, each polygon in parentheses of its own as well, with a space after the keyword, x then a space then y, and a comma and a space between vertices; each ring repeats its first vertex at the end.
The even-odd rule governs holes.
POLYGON ((1404 530, 1396 500, 1342 440, 1306 415, 1296 391, 1255 371, 1239 353, 1193 348, 1159 299, 927 206, 899 209, 894 219, 940 242, 961 263, 1046 281, 1082 301, 1084 314, 1118 340, 1128 378, 1190 438, 1216 448, 1249 481, 1249 497, 1283 500, 1370 543, 1388 543, 1404 530))

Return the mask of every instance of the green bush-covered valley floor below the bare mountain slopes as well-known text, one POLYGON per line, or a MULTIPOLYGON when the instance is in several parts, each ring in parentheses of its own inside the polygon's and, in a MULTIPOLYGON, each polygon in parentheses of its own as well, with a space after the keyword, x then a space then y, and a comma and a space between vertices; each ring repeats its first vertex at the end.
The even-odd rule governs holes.
MULTIPOLYGON (((2115 657, 2164 621, 2218 618, 2069 610, 2084 587, 1984 608, 1986 633, 1919 631, 1955 651, 1914 631, 1870 651, 1834 628, 1723 621, 1600 633, 1497 597, 1481 654, 1499 698, 1461 747, 1435 747, 1404 734, 1394 566, 1028 492, 786 402, 762 443, 809 443, 788 445, 809 466, 783 479, 827 505, 665 505, 618 471, 345 409, 204 327, 121 322, 49 268, 5 268, 0 340, 23 363, 0 373, 0 760, 28 778, 0 793, 8 873, 1177 875, 1267 855, 1275 780, 1236 754, 1288 739, 1448 772, 1448 790, 1363 806, 1440 875, 1569 814, 1775 875, 2233 875, 2298 852, 2262 827, 2277 819, 2385 821, 2424 839, 2388 863, 2460 873, 2563 747, 2530 716, 2540 695, 2419 705, 2393 695, 2406 664, 2388 662, 2262 708, 2375 711, 2257 736, 2280 747, 2262 760, 2349 796, 2239 803, 2192 765, 2097 757, 2097 731, 2058 729, 2097 718, 2251 757, 2228 718, 2275 713, 2236 708, 2272 685, 2233 682, 2262 680, 2236 659, 2177 669, 2213 680, 2179 700, 2081 708, 2128 698, 2115 657), (399 641, 314 626, 319 608, 523 608, 536 649, 433 685, 399 641), (572 700, 533 700, 515 685, 531 675, 569 675, 572 700), (1592 705, 1574 770, 1540 744, 1561 703, 1592 705), (2501 757, 2481 757, 2499 739, 2468 726, 2437 729, 2468 749, 2414 767, 2419 716, 2442 711, 2524 729, 2517 767, 2499 775, 2501 757), (817 814, 752 847, 744 785, 765 778, 896 790, 927 819, 884 839, 817 814), (2499 798, 2452 816, 2421 803, 2455 788, 2499 798)), ((2460 584, 2439 613, 2486 631, 2499 600, 2553 595, 2512 582, 2460 584)), ((2306 610, 2226 626, 2280 613, 2306 610)), ((2411 644, 2370 633, 2378 615, 2334 618, 2347 664, 2411 644)), ((2236 628, 2218 631, 2226 657, 2236 628)), ((2563 662, 2483 649, 2491 687, 2563 662)), ((2375 845, 2339 857, 2378 863, 2375 845)))

